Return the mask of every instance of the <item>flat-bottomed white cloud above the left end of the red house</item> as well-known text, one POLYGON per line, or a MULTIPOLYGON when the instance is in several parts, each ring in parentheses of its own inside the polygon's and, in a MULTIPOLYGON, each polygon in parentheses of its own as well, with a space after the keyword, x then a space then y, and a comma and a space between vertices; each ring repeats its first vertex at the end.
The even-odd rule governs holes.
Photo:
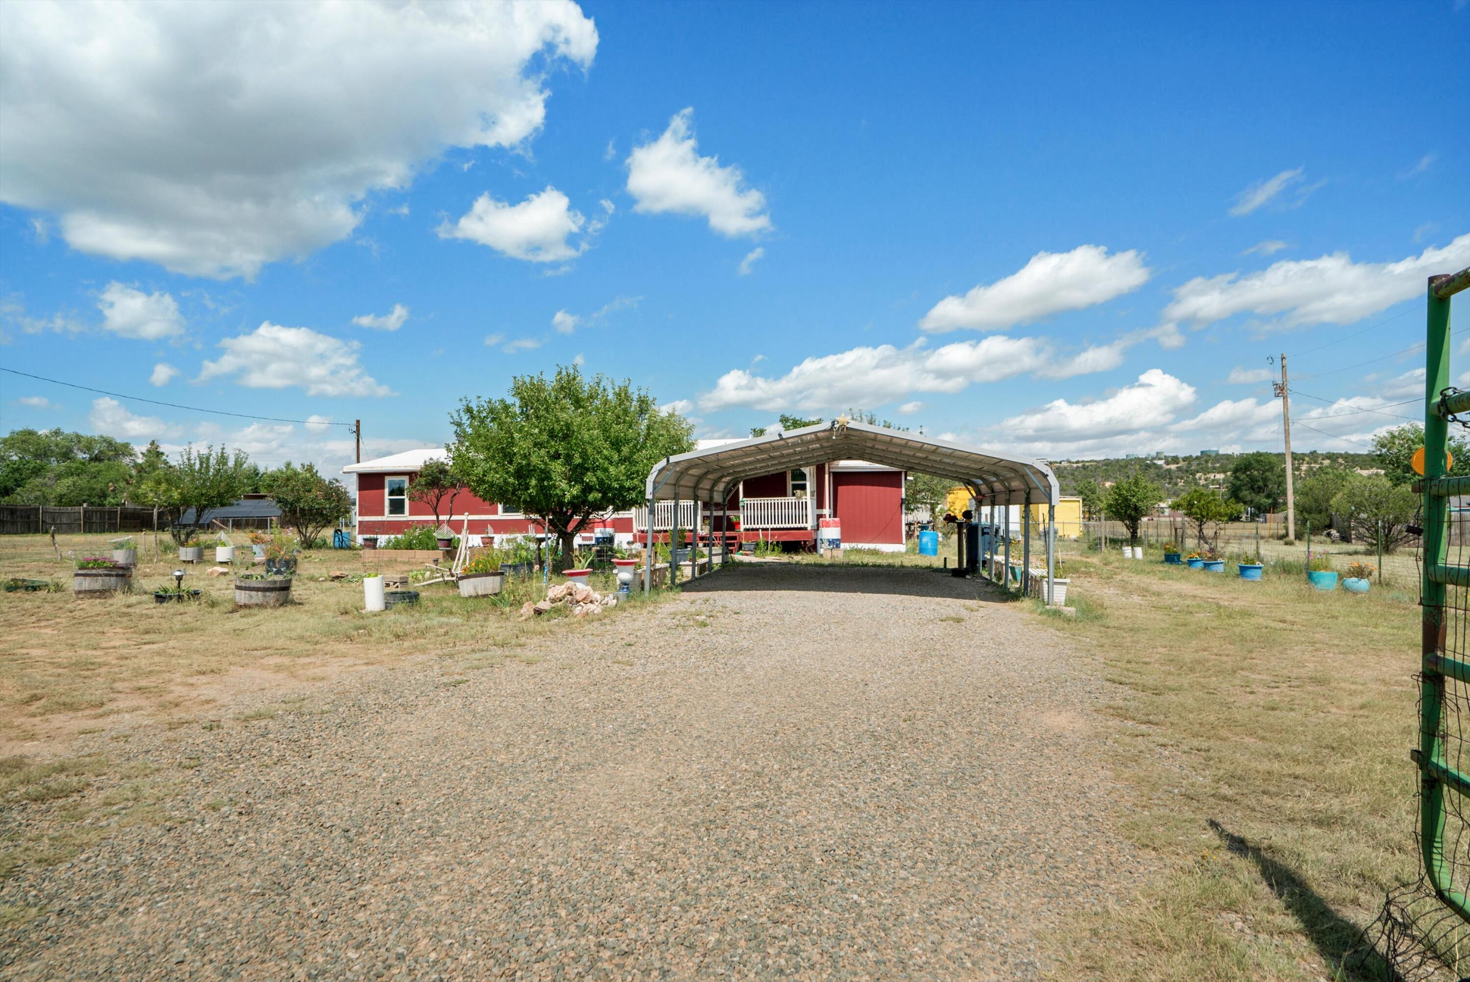
POLYGON ((357 341, 343 341, 310 328, 263 322, 250 334, 225 338, 215 362, 198 379, 234 378, 245 388, 303 388, 307 395, 392 395, 363 370, 357 341))

